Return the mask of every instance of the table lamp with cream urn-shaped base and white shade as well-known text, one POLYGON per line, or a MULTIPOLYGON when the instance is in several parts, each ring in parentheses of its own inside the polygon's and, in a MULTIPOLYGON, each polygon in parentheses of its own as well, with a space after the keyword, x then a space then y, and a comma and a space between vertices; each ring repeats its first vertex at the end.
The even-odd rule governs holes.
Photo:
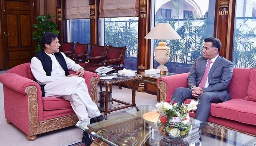
POLYGON ((166 75, 168 73, 167 67, 164 65, 170 59, 170 47, 166 46, 165 39, 181 39, 180 35, 168 23, 158 23, 148 34, 145 39, 161 39, 155 47, 155 60, 160 64, 157 69, 160 69, 160 74, 166 75))

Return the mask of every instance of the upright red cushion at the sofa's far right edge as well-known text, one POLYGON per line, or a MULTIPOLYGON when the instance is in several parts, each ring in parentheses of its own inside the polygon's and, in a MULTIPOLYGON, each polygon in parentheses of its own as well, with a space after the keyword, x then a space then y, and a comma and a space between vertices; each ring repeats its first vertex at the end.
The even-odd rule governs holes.
POLYGON ((256 68, 250 69, 248 91, 244 100, 256 101, 256 68))

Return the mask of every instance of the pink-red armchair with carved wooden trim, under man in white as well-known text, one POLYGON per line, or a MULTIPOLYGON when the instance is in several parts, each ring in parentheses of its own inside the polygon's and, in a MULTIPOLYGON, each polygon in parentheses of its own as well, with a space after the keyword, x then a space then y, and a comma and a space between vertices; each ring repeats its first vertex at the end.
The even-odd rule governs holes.
MULTIPOLYGON (((97 104, 99 76, 84 71, 83 77, 91 99, 97 104)), ((29 141, 34 141, 38 134, 73 126, 78 121, 69 101, 42 97, 41 88, 34 80, 30 63, 15 66, 0 76, 7 123, 14 124, 27 134, 29 141)))

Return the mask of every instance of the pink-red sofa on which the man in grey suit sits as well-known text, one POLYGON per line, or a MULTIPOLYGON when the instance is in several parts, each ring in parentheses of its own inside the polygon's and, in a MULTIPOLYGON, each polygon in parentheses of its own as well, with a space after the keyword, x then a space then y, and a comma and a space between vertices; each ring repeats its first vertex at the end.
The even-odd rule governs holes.
MULTIPOLYGON (((249 72, 250 69, 233 68, 233 77, 228 87, 232 99, 223 103, 212 103, 208 122, 256 135, 256 102, 244 100, 248 95, 249 72)), ((187 87, 187 77, 188 73, 183 73, 159 78, 157 88, 160 90, 160 101, 170 100, 176 88, 187 87)), ((184 103, 190 101, 191 99, 185 100, 184 103)), ((195 115, 195 112, 190 114, 194 118, 195 115)))

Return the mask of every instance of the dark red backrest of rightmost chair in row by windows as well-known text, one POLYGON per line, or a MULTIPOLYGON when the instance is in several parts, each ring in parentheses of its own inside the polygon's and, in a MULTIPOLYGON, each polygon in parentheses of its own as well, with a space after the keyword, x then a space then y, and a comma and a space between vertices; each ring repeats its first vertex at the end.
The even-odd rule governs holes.
POLYGON ((113 65, 123 65, 124 64, 124 56, 125 56, 125 50, 127 49, 127 46, 124 47, 113 47, 109 46, 107 50, 107 58, 106 60, 110 59, 120 59, 119 61, 111 62, 113 65))

